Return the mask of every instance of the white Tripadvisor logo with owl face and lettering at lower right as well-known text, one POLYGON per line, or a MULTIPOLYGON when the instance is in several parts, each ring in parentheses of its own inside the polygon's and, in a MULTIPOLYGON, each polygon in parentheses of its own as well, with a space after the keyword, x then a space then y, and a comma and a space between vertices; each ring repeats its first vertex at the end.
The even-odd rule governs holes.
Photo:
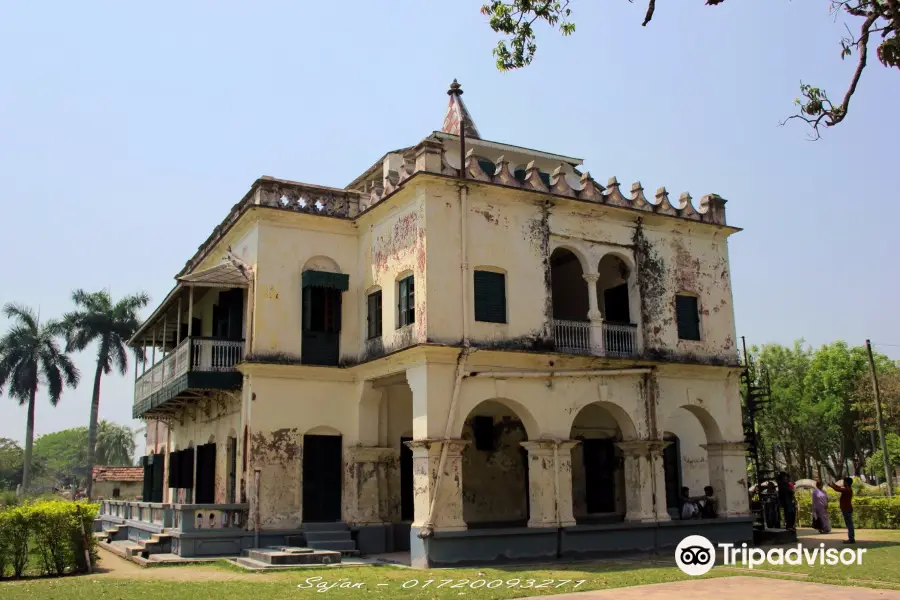
MULTIPOLYGON (((750 548, 747 544, 736 547, 734 544, 718 544, 722 551, 722 564, 725 566, 743 566, 752 569, 760 565, 861 565, 865 548, 826 548, 820 543, 818 547, 804 548, 797 544, 792 548, 750 548)), ((681 540, 675 548, 675 564, 685 574, 691 576, 705 575, 716 564, 716 548, 712 542, 702 535, 689 535, 681 540)))

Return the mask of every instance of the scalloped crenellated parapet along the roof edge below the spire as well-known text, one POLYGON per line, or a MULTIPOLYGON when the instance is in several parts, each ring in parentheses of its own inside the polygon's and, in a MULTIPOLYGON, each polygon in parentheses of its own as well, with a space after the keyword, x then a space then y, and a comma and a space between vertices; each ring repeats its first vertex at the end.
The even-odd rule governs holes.
POLYGON ((595 181, 590 173, 579 174, 565 163, 560 163, 548 174, 541 171, 535 161, 524 166, 516 166, 504 155, 500 155, 496 160, 490 160, 475 154, 475 149, 470 149, 466 153, 463 165, 459 164, 458 158, 458 153, 447 152, 441 141, 432 137, 426 138, 412 148, 412 153, 398 152, 387 155, 383 163, 383 173, 379 174, 381 177, 373 178, 366 183, 365 193, 362 194, 359 205, 360 211, 380 202, 417 172, 457 177, 462 168, 466 179, 472 181, 725 225, 725 200, 716 194, 703 196, 700 198, 699 206, 695 207, 687 192, 682 193, 677 200, 671 200, 669 192, 664 187, 658 188, 648 198, 639 181, 631 184, 631 191, 626 196, 615 177, 611 177, 606 186, 603 186, 595 181))

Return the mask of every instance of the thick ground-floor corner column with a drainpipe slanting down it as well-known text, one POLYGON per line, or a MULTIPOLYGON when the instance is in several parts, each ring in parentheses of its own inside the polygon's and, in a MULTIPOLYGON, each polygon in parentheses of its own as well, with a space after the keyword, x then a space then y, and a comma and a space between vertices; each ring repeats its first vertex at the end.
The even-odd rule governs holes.
POLYGON ((415 494, 415 519, 412 527, 424 527, 431 509, 437 485, 441 447, 447 444, 447 458, 438 489, 432 515, 434 531, 462 531, 466 529, 463 519, 462 499, 462 452, 468 440, 414 440, 406 442, 413 451, 413 490, 415 494))

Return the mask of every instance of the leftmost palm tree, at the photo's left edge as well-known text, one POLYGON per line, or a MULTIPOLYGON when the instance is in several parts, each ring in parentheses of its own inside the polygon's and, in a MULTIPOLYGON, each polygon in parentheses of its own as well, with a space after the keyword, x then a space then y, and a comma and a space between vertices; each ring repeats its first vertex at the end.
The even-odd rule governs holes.
POLYGON ((9 397, 18 400, 19 406, 28 403, 22 468, 22 490, 26 491, 34 445, 34 403, 38 386, 47 386, 50 404, 56 406, 63 387, 77 386, 80 375, 56 342, 56 336, 61 332, 59 323, 50 321, 41 326, 30 308, 18 304, 7 304, 3 314, 13 321, 13 325, 0 338, 0 392, 9 384, 9 397))

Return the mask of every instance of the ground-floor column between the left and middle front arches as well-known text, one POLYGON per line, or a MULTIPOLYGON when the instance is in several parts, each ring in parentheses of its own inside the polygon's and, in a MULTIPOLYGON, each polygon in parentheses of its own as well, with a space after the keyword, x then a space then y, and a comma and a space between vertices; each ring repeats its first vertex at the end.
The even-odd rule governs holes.
POLYGON ((528 451, 528 526, 575 525, 572 511, 572 448, 578 442, 535 440, 520 443, 528 451))

